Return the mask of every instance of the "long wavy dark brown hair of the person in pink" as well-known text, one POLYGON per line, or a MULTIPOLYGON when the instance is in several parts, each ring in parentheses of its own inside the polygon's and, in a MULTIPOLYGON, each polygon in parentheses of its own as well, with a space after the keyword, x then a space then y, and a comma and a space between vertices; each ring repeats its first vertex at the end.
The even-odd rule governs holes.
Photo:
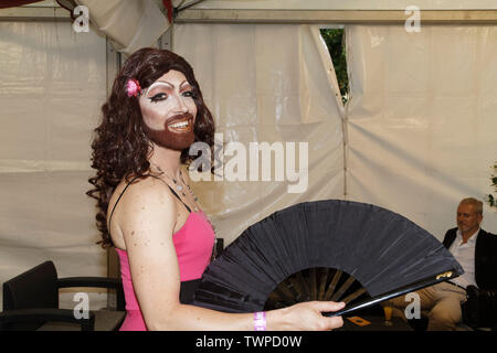
MULTIPOLYGON (((94 188, 86 194, 97 201, 96 225, 102 235, 97 244, 104 248, 114 246, 107 228, 107 208, 116 186, 123 179, 129 182, 131 178, 146 178, 150 172, 148 159, 152 143, 142 130, 138 97, 127 95, 127 82, 135 78, 146 89, 170 69, 183 73, 192 86, 198 109, 193 127, 195 141, 208 143, 211 150, 214 146, 214 121, 190 64, 178 54, 152 47, 140 49, 130 55, 102 107, 103 119, 95 129, 92 142, 92 168, 96 169, 96 175, 88 180, 94 188)), ((184 164, 193 160, 188 150, 181 151, 181 162, 184 164)))

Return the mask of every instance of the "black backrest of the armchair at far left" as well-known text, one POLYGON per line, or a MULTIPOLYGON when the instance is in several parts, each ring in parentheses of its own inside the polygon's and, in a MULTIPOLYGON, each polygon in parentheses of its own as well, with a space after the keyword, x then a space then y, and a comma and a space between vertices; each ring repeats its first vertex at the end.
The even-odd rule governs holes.
POLYGON ((3 284, 3 310, 59 308, 57 271, 45 261, 3 284))

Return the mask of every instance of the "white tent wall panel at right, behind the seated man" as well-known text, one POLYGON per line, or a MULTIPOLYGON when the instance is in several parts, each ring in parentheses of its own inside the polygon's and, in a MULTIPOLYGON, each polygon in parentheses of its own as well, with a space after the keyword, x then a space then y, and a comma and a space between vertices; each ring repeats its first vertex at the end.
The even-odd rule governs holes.
MULTIPOLYGON (((346 29, 349 199, 393 210, 442 239, 463 197, 493 192, 497 26, 346 29)), ((486 205, 482 226, 497 231, 486 205)))

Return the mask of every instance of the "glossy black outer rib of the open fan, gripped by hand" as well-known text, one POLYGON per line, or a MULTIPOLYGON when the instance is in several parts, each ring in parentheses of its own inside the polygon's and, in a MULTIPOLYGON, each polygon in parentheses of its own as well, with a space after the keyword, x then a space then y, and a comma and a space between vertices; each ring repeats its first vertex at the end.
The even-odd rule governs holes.
POLYGON ((322 315, 329 317, 329 318, 331 318, 331 317, 341 317, 343 314, 351 313, 351 312, 357 311, 359 309, 368 308, 368 307, 371 307, 371 306, 377 304, 379 302, 382 302, 382 301, 385 301, 385 300, 389 300, 389 299, 392 299, 392 298, 395 298, 395 297, 399 297, 399 296, 402 296, 402 295, 406 295, 409 292, 412 292, 412 291, 415 291, 415 290, 419 290, 419 289, 422 289, 422 288, 425 288, 425 287, 429 287, 429 286, 433 286, 433 285, 443 282, 443 281, 447 281, 447 280, 456 278, 456 277, 458 277, 458 275, 456 274, 455 270, 446 271, 446 272, 443 272, 443 274, 440 274, 440 275, 435 276, 435 278, 430 277, 430 278, 426 278, 426 279, 422 279, 422 280, 420 280, 417 282, 414 282, 412 285, 408 285, 408 286, 401 287, 399 289, 394 289, 394 290, 389 291, 389 292, 387 292, 384 295, 380 295, 380 296, 370 298, 368 300, 361 301, 361 302, 359 302, 359 303, 357 303, 355 306, 351 306, 349 308, 343 308, 343 309, 341 309, 339 311, 336 311, 336 312, 322 312, 322 315))

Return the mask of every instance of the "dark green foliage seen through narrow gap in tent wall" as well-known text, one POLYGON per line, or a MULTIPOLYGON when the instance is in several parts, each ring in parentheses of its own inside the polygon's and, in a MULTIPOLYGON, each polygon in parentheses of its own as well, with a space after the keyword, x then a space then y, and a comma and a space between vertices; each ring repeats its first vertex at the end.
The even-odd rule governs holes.
POLYGON ((326 45, 328 46, 331 61, 334 62, 341 98, 343 104, 346 104, 349 96, 349 76, 347 74, 345 30, 330 29, 321 30, 320 32, 326 45))

